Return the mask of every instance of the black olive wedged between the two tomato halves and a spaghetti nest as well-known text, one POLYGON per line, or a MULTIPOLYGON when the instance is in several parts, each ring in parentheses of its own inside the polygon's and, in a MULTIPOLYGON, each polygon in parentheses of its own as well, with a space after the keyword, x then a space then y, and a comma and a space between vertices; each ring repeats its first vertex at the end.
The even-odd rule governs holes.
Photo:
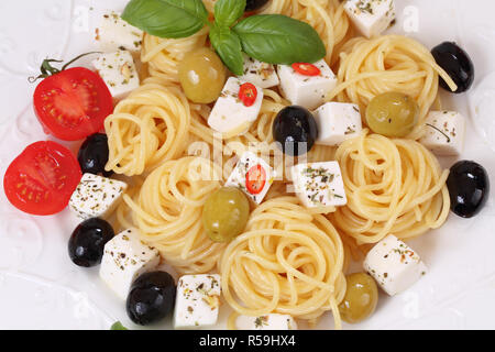
POLYGON ((82 174, 111 176, 113 172, 105 170, 105 165, 108 163, 108 154, 107 134, 95 133, 88 136, 77 154, 82 174))

